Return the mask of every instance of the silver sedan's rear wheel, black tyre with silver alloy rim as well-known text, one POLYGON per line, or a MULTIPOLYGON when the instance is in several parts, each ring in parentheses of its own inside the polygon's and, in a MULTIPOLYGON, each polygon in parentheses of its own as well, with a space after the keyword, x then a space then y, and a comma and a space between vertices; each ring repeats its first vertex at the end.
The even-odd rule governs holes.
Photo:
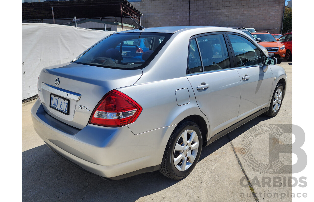
POLYGON ((165 148, 159 171, 171 179, 182 179, 195 167, 202 151, 202 133, 192 120, 180 122, 165 148))

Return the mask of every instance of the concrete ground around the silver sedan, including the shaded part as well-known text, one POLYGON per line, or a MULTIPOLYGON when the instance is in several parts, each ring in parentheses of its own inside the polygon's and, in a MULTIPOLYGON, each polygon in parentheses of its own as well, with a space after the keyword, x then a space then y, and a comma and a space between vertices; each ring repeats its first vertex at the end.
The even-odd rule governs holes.
POLYGON ((31 121, 35 101, 23 104, 23 201, 292 201, 287 186, 292 164, 292 62, 279 65, 287 72, 288 85, 278 115, 259 116, 203 148, 192 173, 179 181, 158 171, 118 181, 88 174, 44 144, 31 121))

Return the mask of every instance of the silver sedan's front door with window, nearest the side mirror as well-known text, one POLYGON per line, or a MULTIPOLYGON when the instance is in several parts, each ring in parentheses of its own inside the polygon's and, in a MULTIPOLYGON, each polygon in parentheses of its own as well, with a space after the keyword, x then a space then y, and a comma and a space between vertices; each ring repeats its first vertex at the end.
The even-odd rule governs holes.
POLYGON ((270 68, 263 71, 265 55, 248 38, 228 33, 231 52, 241 79, 239 121, 269 105, 273 85, 270 68))

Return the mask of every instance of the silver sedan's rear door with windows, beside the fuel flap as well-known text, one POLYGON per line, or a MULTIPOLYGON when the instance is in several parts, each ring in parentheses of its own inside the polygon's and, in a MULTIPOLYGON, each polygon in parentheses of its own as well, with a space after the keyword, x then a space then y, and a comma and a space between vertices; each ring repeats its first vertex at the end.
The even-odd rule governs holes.
POLYGON ((225 38, 225 33, 202 34, 192 38, 189 46, 187 79, 208 118, 209 137, 238 119, 241 81, 236 68, 231 68, 225 38))

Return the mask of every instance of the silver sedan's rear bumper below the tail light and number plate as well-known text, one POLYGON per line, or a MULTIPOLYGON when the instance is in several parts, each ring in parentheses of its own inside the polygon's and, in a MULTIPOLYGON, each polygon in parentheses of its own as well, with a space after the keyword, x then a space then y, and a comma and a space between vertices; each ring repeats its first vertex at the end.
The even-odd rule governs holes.
POLYGON ((159 168, 174 126, 134 135, 127 126, 88 124, 82 130, 44 111, 38 99, 32 110, 35 131, 57 154, 77 167, 109 179, 122 179, 159 168))

